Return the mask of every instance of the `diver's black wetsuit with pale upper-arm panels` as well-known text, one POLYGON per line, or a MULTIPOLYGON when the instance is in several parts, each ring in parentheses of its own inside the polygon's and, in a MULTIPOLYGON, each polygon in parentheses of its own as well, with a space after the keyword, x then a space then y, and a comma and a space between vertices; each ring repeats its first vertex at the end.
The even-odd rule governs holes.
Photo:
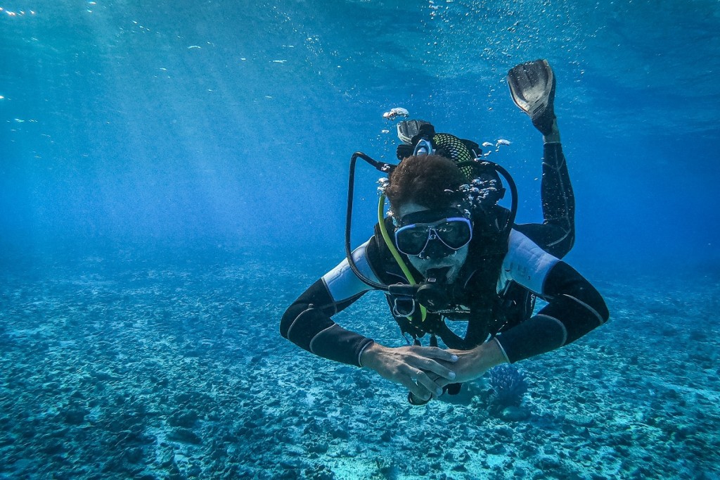
MULTIPOLYGON (((473 221, 474 238, 455 281, 458 308, 446 315, 467 319, 464 337, 451 332, 438 314, 428 314, 422 324, 394 315, 402 331, 416 338, 436 334, 448 347, 462 350, 494 337, 513 363, 567 345, 607 321, 598 291, 560 260, 575 239, 575 202, 559 143, 544 146, 541 195, 542 224, 516 225, 503 237, 484 236, 479 221, 473 221), (532 316, 535 296, 548 304, 532 316)), ((406 283, 383 246, 376 226, 375 235, 353 252, 356 265, 372 280, 406 283)), ((422 277, 408 267, 416 279, 422 277)), ((315 355, 361 366, 362 352, 373 340, 343 329, 331 317, 368 290, 345 259, 289 306, 280 333, 315 355)))

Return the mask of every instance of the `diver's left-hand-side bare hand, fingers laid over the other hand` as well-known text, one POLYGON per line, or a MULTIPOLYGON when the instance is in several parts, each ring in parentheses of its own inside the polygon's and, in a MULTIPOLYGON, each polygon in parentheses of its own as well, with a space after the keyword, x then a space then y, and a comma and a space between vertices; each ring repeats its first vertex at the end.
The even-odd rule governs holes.
POLYGON ((438 347, 384 347, 374 343, 361 355, 360 363, 382 378, 400 383, 418 399, 442 394, 442 386, 455 381, 450 370, 458 360, 454 352, 438 347), (436 380, 431 380, 431 375, 436 380), (446 383, 440 383, 446 381, 446 383))

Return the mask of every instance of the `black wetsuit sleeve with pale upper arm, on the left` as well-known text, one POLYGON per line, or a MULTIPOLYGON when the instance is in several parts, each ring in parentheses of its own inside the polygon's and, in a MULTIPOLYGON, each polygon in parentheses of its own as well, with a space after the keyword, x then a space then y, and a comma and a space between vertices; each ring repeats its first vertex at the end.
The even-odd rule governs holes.
MULTIPOLYGON (((367 244, 353 252, 353 259, 366 277, 377 281, 365 255, 367 244)), ((368 290, 344 259, 287 308, 280 321, 280 334, 315 355, 359 367, 360 355, 372 339, 343 329, 330 317, 368 290)))

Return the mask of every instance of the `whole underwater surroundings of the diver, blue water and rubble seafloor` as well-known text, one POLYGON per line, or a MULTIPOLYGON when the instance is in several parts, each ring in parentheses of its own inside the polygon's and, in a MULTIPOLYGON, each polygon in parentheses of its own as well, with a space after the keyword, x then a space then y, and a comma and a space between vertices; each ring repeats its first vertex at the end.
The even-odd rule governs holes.
MULTIPOLYGON (((0 479, 719 479, 718 32, 717 0, 0 0, 0 479), (611 321, 518 363, 512 410, 282 339, 393 107, 509 141, 541 221, 505 83, 536 58, 611 321)), ((405 345, 379 293, 337 320, 405 345)))

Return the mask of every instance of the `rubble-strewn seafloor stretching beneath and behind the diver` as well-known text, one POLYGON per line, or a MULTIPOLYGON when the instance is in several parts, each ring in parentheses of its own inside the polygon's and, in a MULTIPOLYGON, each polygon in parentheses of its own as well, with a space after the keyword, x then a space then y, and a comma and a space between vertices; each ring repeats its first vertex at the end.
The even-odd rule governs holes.
MULTIPOLYGON (((518 364, 513 421, 486 379, 412 407, 279 337, 335 260, 6 260, 0 479, 720 479, 720 272, 585 272, 611 322, 518 364)), ((339 320, 401 345, 386 308, 339 320)))

